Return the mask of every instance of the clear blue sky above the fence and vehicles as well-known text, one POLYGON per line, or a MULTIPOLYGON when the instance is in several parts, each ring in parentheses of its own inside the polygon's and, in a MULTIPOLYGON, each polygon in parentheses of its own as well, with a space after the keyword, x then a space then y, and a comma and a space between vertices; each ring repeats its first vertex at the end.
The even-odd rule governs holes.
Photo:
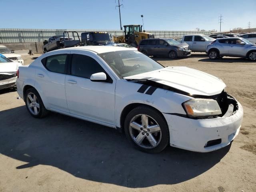
MULTIPOLYGON (((119 29, 118 0, 0 0, 0 28, 119 29)), ((256 28, 256 0, 120 0, 122 26, 145 30, 256 28)))

